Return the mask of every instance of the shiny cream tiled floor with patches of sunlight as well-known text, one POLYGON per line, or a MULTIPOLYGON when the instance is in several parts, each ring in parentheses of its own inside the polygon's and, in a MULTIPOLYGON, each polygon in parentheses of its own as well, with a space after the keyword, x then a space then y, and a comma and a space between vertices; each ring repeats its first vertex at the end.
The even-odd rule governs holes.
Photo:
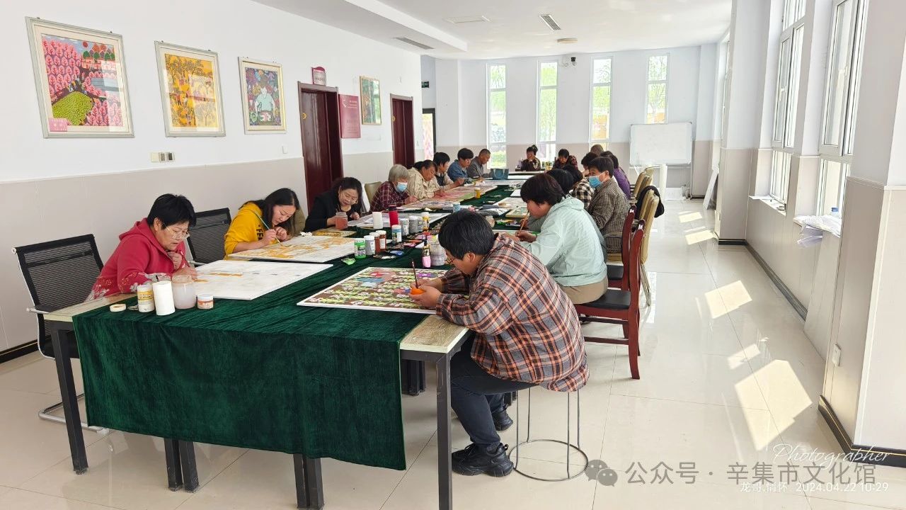
MULTIPOLYGON (((670 201, 667 210, 655 221, 646 264, 655 300, 642 311, 641 380, 629 378, 625 348, 587 348, 592 378, 581 392, 582 447, 613 473, 589 470, 560 483, 517 474, 455 476, 456 508, 906 508, 906 469, 874 468, 877 485, 828 487, 829 466, 814 468, 809 459, 786 455, 790 448, 801 455, 839 453, 817 411, 824 360, 747 250, 718 248, 700 202, 670 201), (790 483, 776 484, 787 461, 800 483, 815 475, 822 483, 801 485, 785 475, 790 483), (765 465, 757 468, 759 462, 765 465), (739 484, 728 475, 733 469, 743 473, 739 484), (757 469, 775 484, 760 491, 745 485, 757 469), (684 477, 679 471, 699 473, 684 477), (615 481, 603 485, 594 476, 615 481)), ((533 437, 564 439, 565 396, 534 390, 532 397, 533 437)), ((0 509, 294 508, 292 460, 273 452, 199 445, 200 490, 173 493, 166 488, 159 439, 86 431, 91 468, 75 476, 65 429, 35 416, 58 399, 53 362, 33 355, 0 365, 0 509)), ((433 385, 403 403, 409 469, 325 459, 325 508, 437 508, 433 385)), ((525 410, 523 404, 523 426, 525 410)), ((504 438, 514 445, 516 430, 504 438)), ((457 448, 467 445, 455 421, 453 440, 457 448)), ((541 445, 521 453, 519 466, 530 473, 565 471, 562 448, 541 445)), ((856 472, 845 467, 843 482, 856 472)))

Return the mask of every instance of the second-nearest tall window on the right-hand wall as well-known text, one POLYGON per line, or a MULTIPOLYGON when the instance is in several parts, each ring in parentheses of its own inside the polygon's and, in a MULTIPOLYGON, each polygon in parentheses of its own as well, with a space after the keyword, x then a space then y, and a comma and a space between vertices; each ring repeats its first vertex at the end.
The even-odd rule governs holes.
POLYGON ((805 0, 785 0, 780 58, 774 101, 774 130, 771 158, 771 191, 775 200, 786 204, 789 193, 790 157, 795 148, 796 111, 799 106, 799 71, 805 35, 805 0))

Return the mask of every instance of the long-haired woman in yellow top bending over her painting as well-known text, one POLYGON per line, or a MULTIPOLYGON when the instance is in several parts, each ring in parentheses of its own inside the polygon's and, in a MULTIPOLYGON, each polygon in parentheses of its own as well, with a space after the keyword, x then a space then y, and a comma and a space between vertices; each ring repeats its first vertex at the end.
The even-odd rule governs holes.
POLYGON ((289 239, 290 221, 299 209, 299 197, 281 188, 264 200, 246 201, 229 224, 224 236, 226 254, 264 248, 289 239))

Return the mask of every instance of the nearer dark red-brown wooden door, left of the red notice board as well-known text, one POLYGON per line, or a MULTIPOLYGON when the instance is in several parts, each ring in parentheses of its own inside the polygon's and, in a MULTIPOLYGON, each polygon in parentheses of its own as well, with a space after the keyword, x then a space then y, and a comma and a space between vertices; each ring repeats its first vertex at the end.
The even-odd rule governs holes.
POLYGON ((314 198, 342 177, 340 106, 336 89, 299 83, 305 197, 311 211, 314 198))

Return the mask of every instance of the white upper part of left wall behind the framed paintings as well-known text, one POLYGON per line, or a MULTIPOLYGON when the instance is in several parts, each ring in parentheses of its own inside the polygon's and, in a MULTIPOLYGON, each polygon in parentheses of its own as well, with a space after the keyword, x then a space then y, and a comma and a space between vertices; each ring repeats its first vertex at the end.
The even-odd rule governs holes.
MULTIPOLYGON (((6 103, 4 113, 5 118, 16 122, 0 125, 0 140, 4 144, 0 152, 0 181, 157 168, 155 165, 161 163, 151 163, 149 152, 158 151, 174 152, 175 164, 180 166, 299 157, 302 141, 296 83, 311 83, 311 67, 316 65, 327 70, 327 84, 339 87, 340 93, 358 95, 360 75, 381 80, 384 122, 379 126, 362 126, 361 139, 344 139, 344 153, 392 151, 390 93, 415 98, 413 113, 420 119, 418 54, 248 0, 230 2, 228 6, 216 0, 198 0, 192 9, 205 13, 204 28, 187 30, 186 25, 174 23, 172 15, 185 8, 185 3, 176 0, 135 3, 128 12, 86 9, 63 0, 5 4, 4 15, 0 16, 0 44, 6 48, 6 68, 17 78, 5 81, 4 92, 7 97, 17 99, 6 103), (123 36, 134 138, 43 139, 25 16, 109 30, 123 36), (255 26, 266 28, 250 31, 250 20, 255 20, 255 26), (225 137, 164 136, 154 52, 156 40, 217 52, 225 137), (245 134, 236 61, 239 56, 283 64, 288 121, 284 134, 245 134)), ((416 152, 420 146, 419 136, 416 152)), ((355 170, 347 169, 347 173, 355 175, 355 170)))

